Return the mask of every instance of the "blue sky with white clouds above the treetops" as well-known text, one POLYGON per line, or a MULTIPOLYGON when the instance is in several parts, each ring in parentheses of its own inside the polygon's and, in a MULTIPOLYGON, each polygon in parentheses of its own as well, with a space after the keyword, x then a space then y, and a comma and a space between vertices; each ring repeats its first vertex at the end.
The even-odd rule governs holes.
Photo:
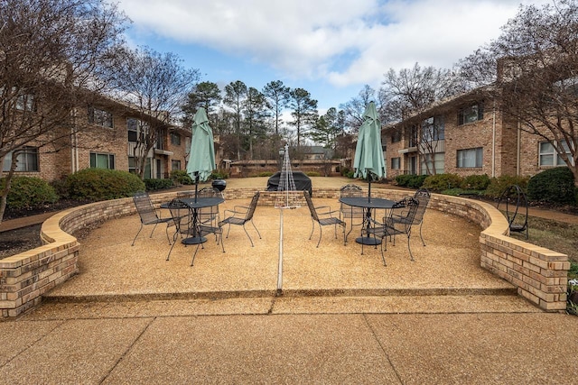
POLYGON ((200 81, 301 87, 323 113, 378 90, 389 69, 451 69, 519 5, 551 0, 118 0, 127 41, 173 52, 200 81))

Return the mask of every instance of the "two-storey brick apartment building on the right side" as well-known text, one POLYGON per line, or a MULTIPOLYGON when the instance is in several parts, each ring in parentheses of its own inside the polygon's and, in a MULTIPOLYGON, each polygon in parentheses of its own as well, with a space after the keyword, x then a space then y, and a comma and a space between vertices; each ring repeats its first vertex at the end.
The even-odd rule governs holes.
POLYGON ((498 178, 533 176, 565 165, 550 142, 522 131, 497 105, 498 100, 479 88, 384 127, 387 179, 431 174, 428 167, 438 174, 498 178))

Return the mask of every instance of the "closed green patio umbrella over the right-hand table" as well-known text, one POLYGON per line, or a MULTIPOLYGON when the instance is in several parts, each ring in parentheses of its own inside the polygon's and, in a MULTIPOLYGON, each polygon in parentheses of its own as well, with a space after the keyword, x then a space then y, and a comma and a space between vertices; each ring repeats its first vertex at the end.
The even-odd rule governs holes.
POLYGON ((386 176, 386 161, 381 147, 381 122, 374 102, 369 102, 363 118, 355 147, 353 177, 368 179, 368 200, 371 200, 371 180, 386 176))

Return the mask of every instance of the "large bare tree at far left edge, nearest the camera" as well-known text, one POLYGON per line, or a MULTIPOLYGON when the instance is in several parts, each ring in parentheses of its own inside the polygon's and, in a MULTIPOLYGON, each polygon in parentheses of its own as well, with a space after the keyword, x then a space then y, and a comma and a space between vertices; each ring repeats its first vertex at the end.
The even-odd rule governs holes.
POLYGON ((73 111, 106 87, 125 23, 101 0, 0 1, 0 221, 19 153, 59 151, 83 128, 73 111))

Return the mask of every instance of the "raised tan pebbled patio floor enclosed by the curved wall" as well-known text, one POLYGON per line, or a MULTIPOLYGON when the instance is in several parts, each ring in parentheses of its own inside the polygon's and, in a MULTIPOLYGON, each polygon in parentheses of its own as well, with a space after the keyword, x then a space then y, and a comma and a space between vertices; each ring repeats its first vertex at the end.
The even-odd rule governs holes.
MULTIPOLYGON (((313 202, 339 207, 336 199, 313 198, 313 202)), ((248 205, 248 199, 228 199, 220 206, 221 215, 235 205, 248 205)), ((169 215, 168 211, 163 215, 169 215)), ((312 221, 305 206, 279 210, 259 205, 254 221, 263 237, 258 239, 253 227, 247 225, 255 247, 240 226, 232 226, 224 239, 226 252, 209 236, 193 267, 189 265, 195 246, 179 243, 171 260, 165 261, 170 245, 163 225, 156 228, 152 238, 152 226, 145 227, 131 246, 138 216, 107 221, 80 240, 79 274, 52 289, 44 300, 283 298, 287 304, 300 298, 299 306, 307 311, 309 307, 320 308, 315 305, 319 298, 331 297, 333 305, 323 303, 328 312, 335 312, 344 303, 358 307, 359 298, 370 298, 362 307, 376 307, 377 311, 406 311, 387 306, 392 298, 429 299, 425 303, 433 309, 435 298, 453 298, 455 305, 448 311, 467 311, 493 297, 504 301, 488 311, 500 311, 500 306, 508 307, 508 311, 537 310, 518 298, 507 281, 480 268, 480 227, 457 216, 428 209, 423 228, 427 246, 422 246, 419 236, 412 237, 415 261, 410 261, 406 239, 399 237, 395 246, 387 244, 387 267, 378 248, 366 246, 361 255, 355 233, 343 245, 340 230, 335 239, 331 226, 323 228, 322 242, 316 248, 319 227, 316 225, 309 240, 312 221)), ((281 303, 278 301, 277 306, 281 303)))

